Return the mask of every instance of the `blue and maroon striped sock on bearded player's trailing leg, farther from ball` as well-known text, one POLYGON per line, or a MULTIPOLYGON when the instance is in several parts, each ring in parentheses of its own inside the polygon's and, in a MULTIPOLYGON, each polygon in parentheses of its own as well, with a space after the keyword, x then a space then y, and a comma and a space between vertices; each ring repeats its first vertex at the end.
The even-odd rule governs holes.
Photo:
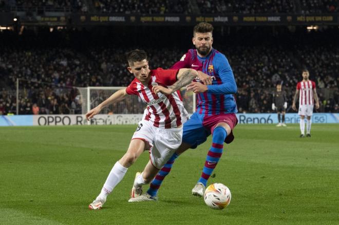
POLYGON ((163 168, 159 171, 157 176, 154 178, 154 180, 150 183, 149 189, 147 190, 147 194, 151 197, 156 197, 159 191, 159 188, 161 186, 161 183, 165 176, 167 176, 168 173, 170 173, 173 163, 175 159, 179 155, 177 153, 174 153, 170 159, 166 162, 166 164, 163 166, 163 168))

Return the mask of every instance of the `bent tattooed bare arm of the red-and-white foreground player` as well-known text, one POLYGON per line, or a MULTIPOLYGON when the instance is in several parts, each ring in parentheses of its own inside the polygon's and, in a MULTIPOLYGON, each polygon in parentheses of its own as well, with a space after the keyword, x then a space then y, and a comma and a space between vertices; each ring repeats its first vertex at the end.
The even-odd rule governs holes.
POLYGON ((198 76, 198 72, 193 69, 180 69, 177 78, 178 80, 171 86, 167 88, 162 86, 153 86, 154 93, 161 92, 163 94, 172 94, 173 92, 179 90, 180 88, 188 85, 191 81, 198 76))

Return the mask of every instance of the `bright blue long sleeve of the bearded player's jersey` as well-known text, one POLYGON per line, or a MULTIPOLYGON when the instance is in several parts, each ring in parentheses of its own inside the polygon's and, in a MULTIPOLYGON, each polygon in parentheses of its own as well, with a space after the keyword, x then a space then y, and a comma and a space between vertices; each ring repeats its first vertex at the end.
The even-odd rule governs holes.
POLYGON ((221 85, 208 85, 208 93, 211 94, 235 94, 237 93, 237 84, 235 83, 233 71, 227 58, 218 53, 214 57, 215 72, 219 74, 222 81, 221 85))

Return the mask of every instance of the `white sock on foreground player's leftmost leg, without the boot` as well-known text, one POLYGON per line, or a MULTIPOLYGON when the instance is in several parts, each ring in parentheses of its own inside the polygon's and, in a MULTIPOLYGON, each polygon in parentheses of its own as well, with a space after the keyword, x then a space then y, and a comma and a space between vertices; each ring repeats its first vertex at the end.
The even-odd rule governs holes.
POLYGON ((113 189, 118 185, 118 183, 125 176, 127 169, 128 168, 121 166, 119 162, 116 162, 114 167, 108 174, 106 182, 104 183, 104 186, 102 187, 101 193, 99 194, 98 198, 106 199, 106 196, 113 191, 113 189))

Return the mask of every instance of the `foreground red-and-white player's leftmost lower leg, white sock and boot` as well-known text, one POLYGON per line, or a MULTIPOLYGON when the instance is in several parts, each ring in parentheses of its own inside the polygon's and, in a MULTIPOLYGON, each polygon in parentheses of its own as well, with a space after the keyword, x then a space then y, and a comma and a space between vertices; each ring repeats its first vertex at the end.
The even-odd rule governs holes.
POLYGON ((101 189, 98 197, 89 204, 88 208, 91 210, 100 210, 103 204, 106 202, 107 195, 117 186, 127 172, 127 168, 123 167, 119 162, 116 162, 108 177, 104 186, 101 189))

